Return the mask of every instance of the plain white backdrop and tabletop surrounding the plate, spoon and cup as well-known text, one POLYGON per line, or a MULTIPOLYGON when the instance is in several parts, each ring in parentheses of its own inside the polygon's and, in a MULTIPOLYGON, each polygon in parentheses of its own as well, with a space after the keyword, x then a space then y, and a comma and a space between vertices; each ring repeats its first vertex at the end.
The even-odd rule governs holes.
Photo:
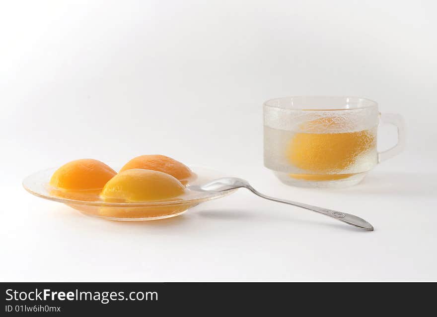
MULTIPOLYGON (((437 280, 434 1, 2 1, 0 280, 437 280), (400 113, 407 149, 356 187, 279 183, 262 103, 352 95, 400 113), (362 216, 365 232, 245 190, 118 223, 30 195, 77 158, 165 154, 267 194, 362 216)), ((396 141, 381 127, 379 145, 396 141)))

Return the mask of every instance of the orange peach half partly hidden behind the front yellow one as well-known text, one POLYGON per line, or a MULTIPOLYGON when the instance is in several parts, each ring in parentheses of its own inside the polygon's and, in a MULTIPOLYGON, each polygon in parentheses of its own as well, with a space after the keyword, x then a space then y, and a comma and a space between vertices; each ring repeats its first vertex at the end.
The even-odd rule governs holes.
POLYGON ((188 166, 165 155, 141 155, 125 164, 120 172, 130 169, 146 169, 170 174, 186 185, 194 177, 188 166))

